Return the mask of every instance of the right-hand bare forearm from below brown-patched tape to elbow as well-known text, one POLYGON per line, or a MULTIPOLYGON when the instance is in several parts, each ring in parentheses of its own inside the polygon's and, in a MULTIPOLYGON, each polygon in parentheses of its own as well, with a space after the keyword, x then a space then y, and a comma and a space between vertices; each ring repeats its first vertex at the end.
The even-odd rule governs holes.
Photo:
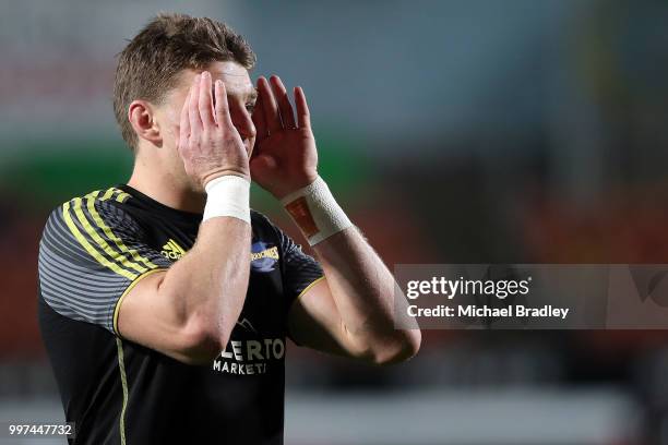
POLYGON ((401 361, 419 348, 419 330, 394 326, 406 305, 394 277, 361 233, 350 227, 314 245, 353 349, 377 362, 401 361))

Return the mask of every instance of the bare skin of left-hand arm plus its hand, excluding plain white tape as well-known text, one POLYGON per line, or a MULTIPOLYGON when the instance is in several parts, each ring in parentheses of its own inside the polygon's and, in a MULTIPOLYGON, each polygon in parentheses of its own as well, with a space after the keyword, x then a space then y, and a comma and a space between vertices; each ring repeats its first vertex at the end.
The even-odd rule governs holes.
MULTIPOLYGON (((195 77, 181 111, 179 153, 186 171, 205 185, 249 178, 248 154, 234 128, 225 87, 195 77)), ((193 249, 167 272, 141 279, 122 299, 120 334, 186 363, 211 362, 241 312, 249 279, 251 227, 235 217, 204 221, 193 249)))

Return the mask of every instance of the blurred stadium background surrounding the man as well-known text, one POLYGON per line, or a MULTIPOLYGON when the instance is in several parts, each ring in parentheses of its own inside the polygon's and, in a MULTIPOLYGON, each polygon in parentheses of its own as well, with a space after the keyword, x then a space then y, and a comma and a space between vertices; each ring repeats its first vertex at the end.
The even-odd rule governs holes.
MULTIPOLYGON (((0 421, 62 417, 38 238, 129 177, 115 55, 158 11, 228 22, 253 77, 305 87, 322 175, 390 265, 668 263, 663 0, 3 1, 0 421)), ((390 369, 287 363, 286 444, 668 444, 660 330, 426 332, 390 369)))

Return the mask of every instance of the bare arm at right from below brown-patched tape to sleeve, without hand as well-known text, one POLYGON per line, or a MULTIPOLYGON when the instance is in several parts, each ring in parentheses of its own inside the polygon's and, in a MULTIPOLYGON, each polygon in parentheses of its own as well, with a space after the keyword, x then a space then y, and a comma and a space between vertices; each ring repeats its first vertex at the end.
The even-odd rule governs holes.
MULTIPOLYGON (((411 358, 420 347, 418 329, 394 326, 394 277, 360 232, 348 228, 314 248, 325 279, 295 302, 290 332, 313 349, 377 364, 411 358)), ((396 291, 396 293, 395 293, 396 291)))

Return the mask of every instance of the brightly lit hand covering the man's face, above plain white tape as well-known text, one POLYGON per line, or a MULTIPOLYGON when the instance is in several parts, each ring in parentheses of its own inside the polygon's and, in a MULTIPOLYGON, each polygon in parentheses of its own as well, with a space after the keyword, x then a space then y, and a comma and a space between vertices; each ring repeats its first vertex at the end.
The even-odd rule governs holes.
POLYGON ((248 153, 232 124, 225 85, 216 81, 213 89, 215 106, 211 73, 204 71, 194 77, 179 129, 178 151, 186 173, 203 189, 208 181, 226 175, 250 181, 248 153))

